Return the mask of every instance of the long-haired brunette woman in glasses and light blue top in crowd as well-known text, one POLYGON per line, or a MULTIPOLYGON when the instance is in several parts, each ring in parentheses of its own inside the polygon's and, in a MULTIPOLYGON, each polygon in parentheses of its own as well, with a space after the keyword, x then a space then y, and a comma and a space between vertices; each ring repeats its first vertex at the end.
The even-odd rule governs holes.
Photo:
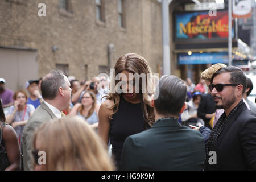
POLYGON ((69 115, 79 115, 84 118, 93 129, 97 129, 98 109, 100 105, 96 102, 96 96, 92 91, 84 91, 84 93, 82 93, 81 103, 77 103, 73 106, 69 115))

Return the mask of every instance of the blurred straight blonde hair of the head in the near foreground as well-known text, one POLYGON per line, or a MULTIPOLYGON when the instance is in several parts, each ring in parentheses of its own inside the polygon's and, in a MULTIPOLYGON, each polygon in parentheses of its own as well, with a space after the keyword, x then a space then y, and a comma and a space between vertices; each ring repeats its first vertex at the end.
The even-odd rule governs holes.
POLYGON ((80 117, 64 117, 44 123, 35 131, 34 148, 46 152, 49 171, 114 170, 100 137, 80 117))

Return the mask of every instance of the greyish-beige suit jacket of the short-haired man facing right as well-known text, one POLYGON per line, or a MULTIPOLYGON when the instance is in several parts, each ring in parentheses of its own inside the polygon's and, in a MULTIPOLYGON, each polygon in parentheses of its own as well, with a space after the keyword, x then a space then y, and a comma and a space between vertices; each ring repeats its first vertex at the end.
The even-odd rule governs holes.
POLYGON ((23 131, 23 137, 22 137, 22 151, 23 151, 23 165, 24 170, 32 170, 32 142, 34 138, 34 131, 38 129, 40 125, 44 122, 49 122, 51 119, 57 118, 49 109, 49 107, 42 102, 38 108, 34 111, 34 113, 31 115, 30 119, 28 119, 27 124, 23 131))

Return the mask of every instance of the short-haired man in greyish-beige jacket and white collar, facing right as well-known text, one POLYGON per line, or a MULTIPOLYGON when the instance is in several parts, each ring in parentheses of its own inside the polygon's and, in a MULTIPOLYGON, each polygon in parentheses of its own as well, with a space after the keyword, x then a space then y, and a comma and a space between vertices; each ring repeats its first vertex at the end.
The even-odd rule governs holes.
MULTIPOLYGON (((71 101, 71 88, 68 78, 60 71, 51 71, 43 77, 41 84, 43 102, 28 119, 23 131, 22 153, 24 170, 33 169, 32 146, 34 131, 44 122, 61 118, 61 112, 71 101)), ((47 154, 46 154, 47 155, 47 154)))

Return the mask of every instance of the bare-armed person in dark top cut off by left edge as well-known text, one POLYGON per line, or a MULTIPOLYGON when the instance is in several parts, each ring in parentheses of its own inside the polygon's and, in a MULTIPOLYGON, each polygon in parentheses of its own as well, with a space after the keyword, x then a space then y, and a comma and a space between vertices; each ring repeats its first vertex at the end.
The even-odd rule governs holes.
POLYGON ((20 169, 20 150, 18 137, 13 127, 6 123, 0 100, 0 171, 20 169))

